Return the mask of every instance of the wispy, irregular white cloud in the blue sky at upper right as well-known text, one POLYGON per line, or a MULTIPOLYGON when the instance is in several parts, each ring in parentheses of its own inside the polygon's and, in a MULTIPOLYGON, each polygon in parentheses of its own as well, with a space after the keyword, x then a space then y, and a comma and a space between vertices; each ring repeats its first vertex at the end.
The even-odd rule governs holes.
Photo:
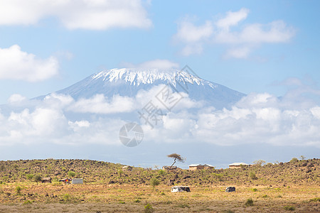
POLYGON ((203 45, 225 45, 225 58, 247 58, 256 48, 265 43, 287 43, 294 36, 295 30, 282 20, 270 23, 249 23, 235 29, 245 21, 248 9, 228 11, 218 21, 206 21, 195 26, 192 21, 178 22, 174 39, 184 44, 183 55, 203 52, 203 45), (178 38, 178 39, 177 39, 178 38))

